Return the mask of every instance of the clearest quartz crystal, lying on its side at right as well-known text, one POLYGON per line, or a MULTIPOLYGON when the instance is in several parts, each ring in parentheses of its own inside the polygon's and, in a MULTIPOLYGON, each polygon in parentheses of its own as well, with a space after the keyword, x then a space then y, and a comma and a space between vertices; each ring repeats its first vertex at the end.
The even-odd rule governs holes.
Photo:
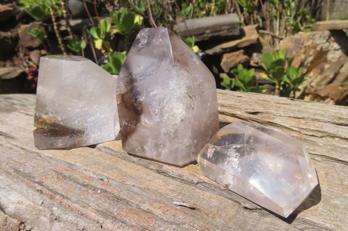
POLYGON ((197 156, 203 174, 239 195, 287 217, 318 184, 308 152, 287 134, 233 122, 197 156))

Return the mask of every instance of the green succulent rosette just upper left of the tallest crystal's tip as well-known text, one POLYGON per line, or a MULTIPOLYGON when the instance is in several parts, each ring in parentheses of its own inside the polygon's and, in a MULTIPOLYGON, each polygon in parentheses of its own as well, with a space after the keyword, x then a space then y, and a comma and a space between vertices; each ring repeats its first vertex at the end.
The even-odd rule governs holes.
POLYGON ((142 16, 123 7, 119 11, 112 11, 110 16, 112 22, 117 26, 114 32, 123 35, 132 34, 137 27, 143 24, 144 20, 142 16))

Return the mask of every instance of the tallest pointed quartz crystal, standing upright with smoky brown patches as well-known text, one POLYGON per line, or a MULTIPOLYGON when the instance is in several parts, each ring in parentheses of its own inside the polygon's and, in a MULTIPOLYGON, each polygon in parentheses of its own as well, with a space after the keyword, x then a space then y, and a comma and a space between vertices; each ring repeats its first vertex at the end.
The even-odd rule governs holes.
POLYGON ((126 152, 181 166, 195 160, 219 130, 212 73, 166 28, 139 32, 117 93, 126 152))

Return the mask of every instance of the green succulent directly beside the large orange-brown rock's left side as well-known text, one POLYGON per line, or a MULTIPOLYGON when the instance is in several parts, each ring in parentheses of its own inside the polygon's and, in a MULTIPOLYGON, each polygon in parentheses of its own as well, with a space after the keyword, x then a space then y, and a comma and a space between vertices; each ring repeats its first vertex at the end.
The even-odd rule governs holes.
POLYGON ((268 79, 275 83, 275 95, 289 97, 291 90, 295 93, 298 86, 304 81, 302 68, 299 70, 291 66, 295 56, 286 58, 286 50, 275 50, 274 53, 263 54, 263 62, 260 65, 267 72, 261 74, 261 78, 268 79), (287 69, 285 69, 287 63, 287 69), (288 82, 286 82, 288 80, 288 82), (290 82, 290 83, 289 83, 290 82), (291 85, 290 91, 287 85, 291 85))

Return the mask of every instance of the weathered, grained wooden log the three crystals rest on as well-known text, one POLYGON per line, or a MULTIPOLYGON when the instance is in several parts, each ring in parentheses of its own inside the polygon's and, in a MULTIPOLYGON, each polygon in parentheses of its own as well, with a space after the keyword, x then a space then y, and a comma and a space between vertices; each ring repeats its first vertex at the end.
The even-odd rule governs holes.
POLYGON ((135 157, 120 140, 38 150, 33 107, 0 118, 0 218, 32 231, 347 229, 348 107, 224 90, 218 103, 221 126, 245 120, 278 128, 309 152, 319 185, 288 218, 208 179, 196 164, 135 157))

